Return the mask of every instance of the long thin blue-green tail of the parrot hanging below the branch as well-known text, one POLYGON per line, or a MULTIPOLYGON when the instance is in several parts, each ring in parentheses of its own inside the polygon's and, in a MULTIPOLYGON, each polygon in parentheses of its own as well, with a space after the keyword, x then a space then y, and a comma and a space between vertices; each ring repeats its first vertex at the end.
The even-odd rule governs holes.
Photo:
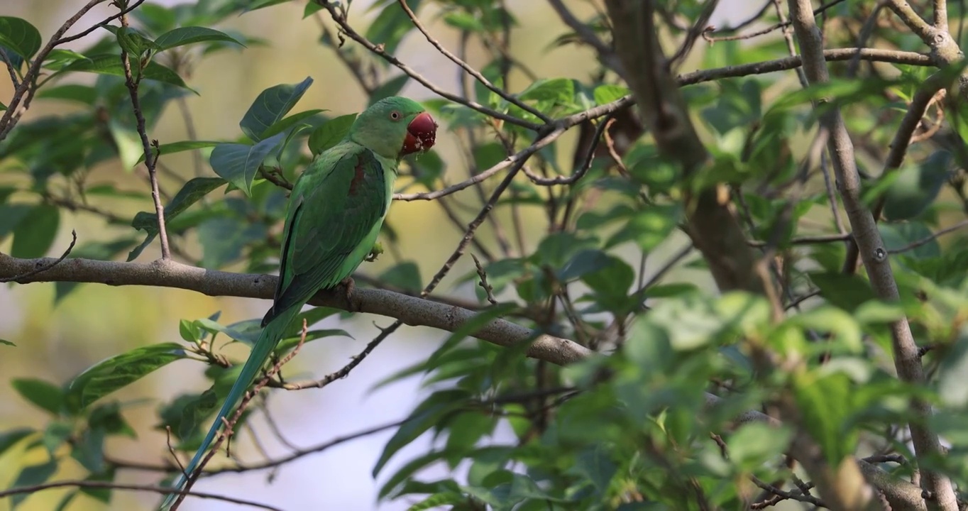
MULTIPOLYGON (((245 395, 246 390, 249 389, 249 385, 252 384, 253 380, 256 379, 258 372, 262 369, 265 361, 269 358, 269 353, 272 349, 279 344, 282 340, 283 335, 286 332, 286 328, 292 321, 292 318, 299 314, 299 310, 302 309, 300 304, 298 307, 290 307, 284 311, 279 316, 274 317, 269 324, 265 325, 262 329, 262 333, 259 334, 256 345, 252 347, 252 352, 249 354, 249 359, 245 361, 245 365, 242 366, 242 372, 239 373, 239 377, 235 380, 232 385, 232 389, 228 391, 228 397, 226 398, 225 405, 219 410, 219 414, 215 416, 215 422, 212 427, 208 430, 208 435, 205 435, 205 439, 202 440, 201 446, 195 453, 195 457, 192 458, 192 462, 185 467, 185 473, 191 475, 195 471, 201 459, 205 457, 205 452, 208 447, 215 441, 215 436, 218 435, 219 429, 222 427, 222 419, 227 418, 228 414, 232 412, 232 409, 238 405, 238 402, 245 395)), ((178 476, 175 484, 172 488, 176 490, 181 490, 185 487, 188 482, 188 478, 185 474, 178 476)), ((176 494, 169 494, 166 496, 165 501, 162 503, 162 509, 167 511, 171 505, 177 499, 176 494)))

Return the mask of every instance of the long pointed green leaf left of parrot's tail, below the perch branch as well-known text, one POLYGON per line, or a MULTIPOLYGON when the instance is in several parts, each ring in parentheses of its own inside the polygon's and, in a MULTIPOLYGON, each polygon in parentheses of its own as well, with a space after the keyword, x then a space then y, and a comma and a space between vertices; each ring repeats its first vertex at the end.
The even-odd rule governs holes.
POLYGON ((183 346, 176 343, 136 347, 112 356, 86 369, 67 384, 68 403, 73 409, 82 409, 175 360, 187 357, 183 346))

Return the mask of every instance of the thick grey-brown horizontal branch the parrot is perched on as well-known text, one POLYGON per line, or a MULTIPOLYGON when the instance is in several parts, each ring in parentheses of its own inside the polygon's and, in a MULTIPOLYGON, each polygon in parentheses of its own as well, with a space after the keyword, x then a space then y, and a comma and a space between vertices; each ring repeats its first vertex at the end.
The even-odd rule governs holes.
MULTIPOLYGON (((35 268, 49 265, 55 260, 51 257, 21 259, 0 254, 0 278, 22 275, 35 268)), ((272 298, 276 289, 276 277, 271 275, 206 270, 170 259, 137 263, 69 258, 43 273, 15 282, 177 287, 209 296, 239 296, 267 300, 272 298)), ((430 326, 448 332, 457 330, 477 314, 460 307, 381 289, 356 289, 353 292, 353 302, 347 304, 344 293, 321 291, 309 303, 395 317, 411 326, 430 326)), ((560 365, 576 362, 592 353, 589 348, 567 339, 540 334, 504 319, 491 321, 471 335, 499 346, 531 343, 527 351, 528 356, 560 365)))

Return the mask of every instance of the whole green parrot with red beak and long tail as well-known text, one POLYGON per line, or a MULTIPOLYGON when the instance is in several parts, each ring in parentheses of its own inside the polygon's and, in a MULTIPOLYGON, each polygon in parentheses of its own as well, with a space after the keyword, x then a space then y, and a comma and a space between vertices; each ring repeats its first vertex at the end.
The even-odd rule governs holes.
MULTIPOLYGON (((423 106, 407 98, 386 98, 360 113, 346 138, 320 153, 296 180, 272 307, 186 473, 201 462, 223 418, 242 399, 302 306, 320 289, 339 286, 370 254, 390 207, 400 159, 430 149, 436 137, 437 123, 423 106)), ((183 474, 174 488, 181 490, 186 482, 183 474)), ((163 509, 176 497, 168 495, 163 509)))

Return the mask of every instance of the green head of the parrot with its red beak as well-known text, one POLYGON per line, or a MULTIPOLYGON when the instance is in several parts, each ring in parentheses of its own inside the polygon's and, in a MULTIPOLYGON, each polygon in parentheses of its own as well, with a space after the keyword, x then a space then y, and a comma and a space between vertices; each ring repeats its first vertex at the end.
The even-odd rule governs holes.
POLYGON ((380 156, 399 159, 433 147, 437 123, 419 103, 391 96, 356 116, 349 139, 380 156))

